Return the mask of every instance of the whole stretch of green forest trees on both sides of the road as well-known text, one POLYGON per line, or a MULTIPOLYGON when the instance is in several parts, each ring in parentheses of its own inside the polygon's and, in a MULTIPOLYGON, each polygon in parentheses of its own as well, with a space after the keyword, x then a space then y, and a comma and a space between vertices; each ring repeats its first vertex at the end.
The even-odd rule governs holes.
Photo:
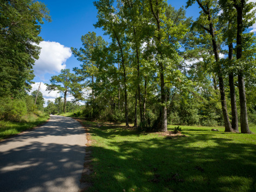
POLYGON ((167 131, 171 124, 252 133, 256 50, 248 28, 255 23, 255 3, 189 0, 175 9, 164 0, 95 1, 94 27, 109 39, 93 31, 81 37, 83 47, 72 47, 81 65, 52 76, 47 90, 62 97, 46 107, 42 93, 28 93, 49 10, 32 0, 0 5, 1 124, 44 111, 125 122, 146 132, 167 131), (201 10, 195 21, 185 16, 193 4, 201 10))

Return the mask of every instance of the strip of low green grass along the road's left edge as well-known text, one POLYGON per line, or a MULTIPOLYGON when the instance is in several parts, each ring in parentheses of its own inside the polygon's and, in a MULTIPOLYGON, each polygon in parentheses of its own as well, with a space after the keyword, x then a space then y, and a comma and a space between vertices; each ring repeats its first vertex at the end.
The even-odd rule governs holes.
POLYGON ((45 123, 49 119, 49 114, 39 113, 38 115, 29 114, 23 117, 21 122, 0 121, 0 140, 8 138, 18 133, 31 129, 37 125, 45 123))

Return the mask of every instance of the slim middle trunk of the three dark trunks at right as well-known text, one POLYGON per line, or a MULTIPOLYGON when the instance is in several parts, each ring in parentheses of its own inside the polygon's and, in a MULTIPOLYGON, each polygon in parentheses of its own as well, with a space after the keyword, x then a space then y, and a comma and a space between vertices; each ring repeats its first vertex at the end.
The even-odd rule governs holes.
MULTIPOLYGON (((228 59, 233 60, 233 43, 228 45, 228 59)), ((239 132, 238 129, 238 110, 236 108, 236 98, 235 98, 235 85, 234 85, 234 74, 230 72, 228 75, 229 81, 229 91, 231 97, 231 111, 232 111, 232 128, 235 132, 239 132)))

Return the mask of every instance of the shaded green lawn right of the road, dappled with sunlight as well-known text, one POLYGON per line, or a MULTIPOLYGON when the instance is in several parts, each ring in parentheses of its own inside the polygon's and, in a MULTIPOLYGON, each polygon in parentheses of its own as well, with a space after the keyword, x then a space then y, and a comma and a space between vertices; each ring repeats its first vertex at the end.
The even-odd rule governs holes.
POLYGON ((93 140, 89 191, 256 191, 256 135, 181 126, 188 137, 167 139, 85 124, 93 140))

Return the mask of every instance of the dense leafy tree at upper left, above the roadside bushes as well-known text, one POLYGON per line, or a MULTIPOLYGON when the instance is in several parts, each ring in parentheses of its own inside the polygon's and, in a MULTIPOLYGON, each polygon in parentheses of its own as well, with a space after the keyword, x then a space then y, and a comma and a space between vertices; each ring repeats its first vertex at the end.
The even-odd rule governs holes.
POLYGON ((50 21, 41 2, 0 1, 0 97, 21 97, 31 88, 43 18, 50 21))

